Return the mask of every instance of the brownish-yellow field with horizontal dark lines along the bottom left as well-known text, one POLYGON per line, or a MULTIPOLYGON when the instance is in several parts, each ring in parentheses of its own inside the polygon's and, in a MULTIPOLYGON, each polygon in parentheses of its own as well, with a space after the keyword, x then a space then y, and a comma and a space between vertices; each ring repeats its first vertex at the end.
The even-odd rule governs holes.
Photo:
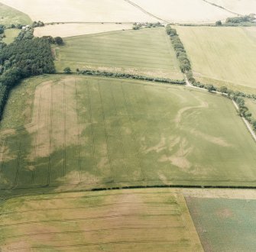
POLYGON ((183 196, 168 189, 27 196, 0 209, 3 251, 203 251, 183 196))

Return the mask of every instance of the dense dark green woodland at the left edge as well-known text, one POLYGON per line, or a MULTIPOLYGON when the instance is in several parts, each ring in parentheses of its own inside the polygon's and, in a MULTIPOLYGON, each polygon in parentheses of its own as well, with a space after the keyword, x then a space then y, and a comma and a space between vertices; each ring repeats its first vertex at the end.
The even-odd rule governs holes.
POLYGON ((49 42, 44 38, 31 38, 26 31, 21 33, 15 42, 0 50, 0 118, 8 93, 21 79, 55 72, 49 42))

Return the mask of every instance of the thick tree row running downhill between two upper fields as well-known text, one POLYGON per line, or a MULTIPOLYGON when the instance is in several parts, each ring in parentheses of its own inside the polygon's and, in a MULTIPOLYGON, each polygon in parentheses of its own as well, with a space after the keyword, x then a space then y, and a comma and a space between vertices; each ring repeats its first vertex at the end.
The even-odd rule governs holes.
POLYGON ((180 63, 180 69, 183 73, 191 72, 190 60, 186 55, 186 50, 177 34, 177 31, 173 29, 170 24, 166 27, 167 34, 170 36, 170 40, 173 44, 173 48, 176 52, 177 59, 180 63))

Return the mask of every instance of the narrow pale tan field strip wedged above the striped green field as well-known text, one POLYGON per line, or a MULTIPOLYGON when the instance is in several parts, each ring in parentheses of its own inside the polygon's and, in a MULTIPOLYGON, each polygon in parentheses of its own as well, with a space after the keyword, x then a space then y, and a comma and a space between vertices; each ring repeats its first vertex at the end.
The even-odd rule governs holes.
POLYGON ((53 24, 34 29, 35 37, 73 37, 85 34, 99 34, 107 31, 122 31, 132 28, 132 24, 53 24))

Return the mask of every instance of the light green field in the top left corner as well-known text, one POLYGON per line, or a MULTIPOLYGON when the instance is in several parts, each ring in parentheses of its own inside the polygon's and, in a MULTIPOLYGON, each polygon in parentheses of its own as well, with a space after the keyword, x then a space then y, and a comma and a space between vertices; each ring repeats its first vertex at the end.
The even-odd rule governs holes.
POLYGON ((31 18, 21 11, 0 3, 0 24, 31 24, 31 18))

